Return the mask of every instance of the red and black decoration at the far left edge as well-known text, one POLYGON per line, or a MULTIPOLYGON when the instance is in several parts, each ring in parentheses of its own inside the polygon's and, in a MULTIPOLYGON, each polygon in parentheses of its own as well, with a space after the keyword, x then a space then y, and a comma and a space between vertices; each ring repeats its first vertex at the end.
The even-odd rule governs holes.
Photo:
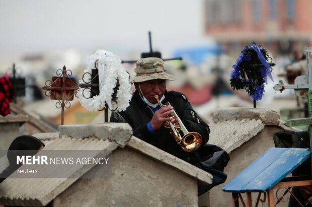
POLYGON ((14 99, 12 83, 8 76, 0 78, 0 115, 6 116, 11 113, 10 105, 14 99))

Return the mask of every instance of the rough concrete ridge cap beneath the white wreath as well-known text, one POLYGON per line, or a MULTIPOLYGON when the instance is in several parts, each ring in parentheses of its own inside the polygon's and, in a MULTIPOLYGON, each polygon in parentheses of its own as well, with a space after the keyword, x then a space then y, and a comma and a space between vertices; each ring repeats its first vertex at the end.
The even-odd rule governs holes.
POLYGON ((59 126, 59 136, 69 136, 76 139, 97 137, 109 140, 124 147, 132 136, 132 128, 127 123, 102 123, 91 125, 62 125, 59 126))

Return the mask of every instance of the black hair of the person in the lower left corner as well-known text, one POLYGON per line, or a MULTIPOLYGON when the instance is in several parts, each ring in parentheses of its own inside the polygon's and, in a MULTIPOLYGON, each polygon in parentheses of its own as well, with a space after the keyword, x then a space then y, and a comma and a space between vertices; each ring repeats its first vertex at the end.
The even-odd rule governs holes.
POLYGON ((16 163, 17 156, 33 156, 44 146, 43 142, 34 136, 22 135, 16 137, 9 147, 7 153, 9 166, 0 174, 0 183, 21 167, 21 164, 16 163))

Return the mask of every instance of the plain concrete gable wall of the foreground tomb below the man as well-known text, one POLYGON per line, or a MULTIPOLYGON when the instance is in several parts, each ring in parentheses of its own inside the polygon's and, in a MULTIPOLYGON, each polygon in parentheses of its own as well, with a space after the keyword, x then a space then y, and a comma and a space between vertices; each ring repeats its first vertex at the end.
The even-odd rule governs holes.
POLYGON ((80 178, 52 206, 198 206, 197 180, 183 172, 129 148, 111 164, 108 178, 80 178))

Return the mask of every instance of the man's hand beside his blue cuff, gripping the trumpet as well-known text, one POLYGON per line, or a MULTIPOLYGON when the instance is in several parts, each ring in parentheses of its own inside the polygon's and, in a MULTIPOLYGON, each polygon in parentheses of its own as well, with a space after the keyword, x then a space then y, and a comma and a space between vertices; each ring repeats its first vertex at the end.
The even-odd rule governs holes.
POLYGON ((172 106, 164 106, 157 110, 150 120, 150 125, 153 130, 160 129, 165 121, 171 121, 173 117, 167 117, 171 113, 173 113, 172 106))

